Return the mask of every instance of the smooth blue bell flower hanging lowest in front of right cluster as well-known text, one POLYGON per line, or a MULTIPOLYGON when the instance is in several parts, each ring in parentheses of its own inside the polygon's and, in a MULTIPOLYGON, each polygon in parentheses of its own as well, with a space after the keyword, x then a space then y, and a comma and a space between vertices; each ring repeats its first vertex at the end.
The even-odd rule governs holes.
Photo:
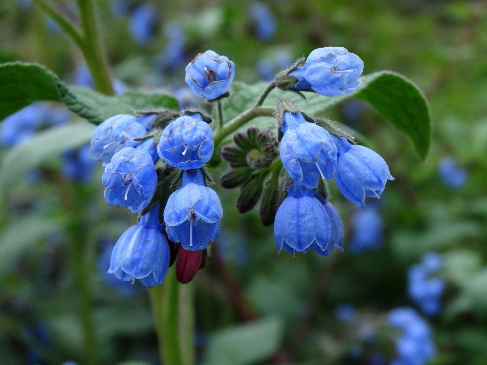
POLYGON ((312 189, 298 182, 293 182, 287 193, 274 220, 277 248, 294 256, 316 243, 325 251, 331 240, 332 225, 323 204, 315 198, 312 189))

